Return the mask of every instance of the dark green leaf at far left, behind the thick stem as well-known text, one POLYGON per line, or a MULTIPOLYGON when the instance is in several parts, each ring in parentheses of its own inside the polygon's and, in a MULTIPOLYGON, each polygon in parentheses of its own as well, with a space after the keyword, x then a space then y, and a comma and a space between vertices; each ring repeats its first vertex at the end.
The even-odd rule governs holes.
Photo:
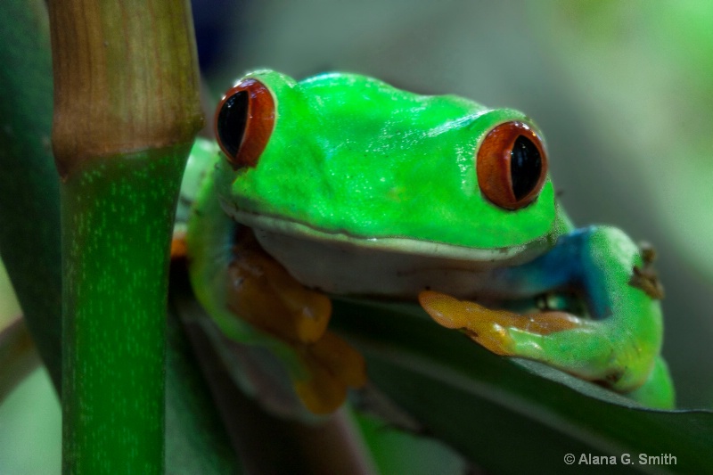
POLYGON ((42 360, 60 388, 60 191, 50 148, 45 3, 0 3, 0 253, 42 360))

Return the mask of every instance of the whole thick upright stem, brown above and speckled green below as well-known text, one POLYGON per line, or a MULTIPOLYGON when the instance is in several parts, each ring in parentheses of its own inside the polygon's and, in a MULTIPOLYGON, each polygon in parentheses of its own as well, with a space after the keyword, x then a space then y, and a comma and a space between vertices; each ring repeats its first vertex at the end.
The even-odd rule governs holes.
POLYGON ((201 128, 185 0, 53 0, 65 473, 160 473, 168 245, 201 128))

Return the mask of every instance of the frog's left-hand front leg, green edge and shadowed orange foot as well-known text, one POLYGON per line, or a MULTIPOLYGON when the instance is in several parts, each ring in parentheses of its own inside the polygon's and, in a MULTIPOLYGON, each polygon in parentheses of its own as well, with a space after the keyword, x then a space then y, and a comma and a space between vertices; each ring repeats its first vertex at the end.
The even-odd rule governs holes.
POLYGON ((193 204, 185 245, 202 307, 228 339, 277 356, 307 409, 331 413, 349 387, 364 384, 363 357, 327 331, 330 299, 297 282, 250 228, 225 214, 211 175, 193 204))

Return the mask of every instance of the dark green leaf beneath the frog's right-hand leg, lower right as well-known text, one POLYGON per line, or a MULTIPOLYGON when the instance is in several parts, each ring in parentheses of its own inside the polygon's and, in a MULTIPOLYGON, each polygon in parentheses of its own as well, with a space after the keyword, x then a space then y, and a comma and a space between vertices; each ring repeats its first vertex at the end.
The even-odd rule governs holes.
POLYGON ((550 368, 492 355, 424 315, 408 305, 335 304, 336 326, 364 352, 370 381, 482 468, 567 472, 566 454, 614 455, 612 471, 701 473, 713 465, 713 413, 638 407, 550 368), (635 464, 622 465, 624 454, 635 464), (639 454, 670 454, 676 464, 639 464, 639 454))

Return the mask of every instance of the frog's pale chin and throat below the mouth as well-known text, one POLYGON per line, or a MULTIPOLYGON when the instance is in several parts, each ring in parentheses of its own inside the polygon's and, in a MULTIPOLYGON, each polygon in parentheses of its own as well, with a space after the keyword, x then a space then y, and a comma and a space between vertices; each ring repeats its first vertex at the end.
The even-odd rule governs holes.
POLYGON ((519 246, 468 248, 407 237, 327 233, 277 217, 231 210, 300 283, 339 295, 414 299, 430 289, 460 298, 488 292, 489 271, 517 266, 552 246, 544 236, 519 246))

